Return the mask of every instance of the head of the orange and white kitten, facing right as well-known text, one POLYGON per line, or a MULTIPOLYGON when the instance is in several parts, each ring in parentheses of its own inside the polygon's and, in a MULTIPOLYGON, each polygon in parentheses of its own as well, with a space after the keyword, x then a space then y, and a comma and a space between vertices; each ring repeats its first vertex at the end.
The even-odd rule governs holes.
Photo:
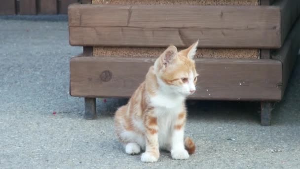
POLYGON ((193 57, 197 45, 198 41, 179 52, 171 45, 156 59, 154 71, 163 90, 183 96, 195 92, 198 74, 193 57))

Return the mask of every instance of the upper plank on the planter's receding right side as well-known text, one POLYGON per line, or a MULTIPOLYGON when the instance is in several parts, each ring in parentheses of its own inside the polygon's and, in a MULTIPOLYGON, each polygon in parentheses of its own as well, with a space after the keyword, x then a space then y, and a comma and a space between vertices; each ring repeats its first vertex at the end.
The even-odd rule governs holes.
POLYGON ((283 44, 300 15, 300 0, 276 0, 274 5, 280 6, 281 10, 281 44, 283 44))

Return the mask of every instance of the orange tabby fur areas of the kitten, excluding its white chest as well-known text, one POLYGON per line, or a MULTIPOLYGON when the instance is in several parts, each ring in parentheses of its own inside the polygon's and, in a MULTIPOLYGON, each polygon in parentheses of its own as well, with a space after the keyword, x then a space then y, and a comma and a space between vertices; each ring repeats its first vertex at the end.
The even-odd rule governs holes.
MULTIPOLYGON (((122 143, 135 142, 134 136, 144 138, 146 153, 157 158, 159 157, 157 118, 160 117, 155 113, 156 107, 153 106, 151 98, 158 94, 161 87, 158 79, 169 86, 182 86, 186 83, 183 78, 188 78, 190 72, 195 77, 198 76, 195 62, 188 57, 191 47, 178 53, 175 49, 175 46, 170 46, 157 58, 155 64, 149 68, 145 81, 135 90, 128 103, 118 108, 114 118, 116 135, 122 143), (130 135, 133 133, 136 135, 130 135), (124 134, 129 134, 129 136, 124 136, 124 134)), ((196 83, 196 78, 193 79, 193 83, 196 83)), ((183 110, 179 110, 181 113, 177 115, 175 120, 175 130, 183 129, 186 123, 184 100, 181 104, 183 110)), ((142 146, 142 143, 138 144, 142 146)), ((185 147, 189 154, 195 151, 195 145, 190 138, 185 140, 185 147)))

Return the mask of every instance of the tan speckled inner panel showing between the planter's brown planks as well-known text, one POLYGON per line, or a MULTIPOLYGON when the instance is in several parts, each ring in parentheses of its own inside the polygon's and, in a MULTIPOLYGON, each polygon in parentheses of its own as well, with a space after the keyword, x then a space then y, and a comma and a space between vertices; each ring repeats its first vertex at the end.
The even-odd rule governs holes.
MULTIPOLYGON (((259 0, 92 0, 93 4, 185 4, 185 5, 259 5, 259 0)), ((93 47, 94 56, 157 57, 165 48, 93 47)), ((196 58, 256 59, 258 49, 198 48, 196 58)))

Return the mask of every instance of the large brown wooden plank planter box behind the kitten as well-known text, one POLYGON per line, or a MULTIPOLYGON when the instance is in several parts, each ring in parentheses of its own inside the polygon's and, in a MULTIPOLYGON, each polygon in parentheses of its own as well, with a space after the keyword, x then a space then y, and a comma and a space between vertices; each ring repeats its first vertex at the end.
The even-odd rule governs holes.
POLYGON ((199 39, 200 90, 189 98, 261 101, 261 124, 270 125, 272 103, 282 99, 300 47, 300 0, 219 1, 70 5, 70 44, 83 46, 70 61, 70 94, 85 97, 85 118, 96 117, 96 97, 130 97, 157 51, 199 39))

